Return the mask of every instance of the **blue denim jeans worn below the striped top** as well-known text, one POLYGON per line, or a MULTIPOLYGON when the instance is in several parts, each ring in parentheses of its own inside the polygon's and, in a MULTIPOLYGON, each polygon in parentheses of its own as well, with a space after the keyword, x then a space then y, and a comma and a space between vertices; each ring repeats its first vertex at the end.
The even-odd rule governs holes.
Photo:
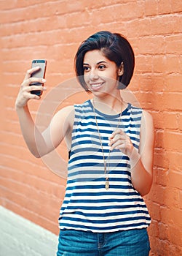
POLYGON ((111 233, 60 230, 57 256, 148 256, 149 251, 146 228, 111 233))

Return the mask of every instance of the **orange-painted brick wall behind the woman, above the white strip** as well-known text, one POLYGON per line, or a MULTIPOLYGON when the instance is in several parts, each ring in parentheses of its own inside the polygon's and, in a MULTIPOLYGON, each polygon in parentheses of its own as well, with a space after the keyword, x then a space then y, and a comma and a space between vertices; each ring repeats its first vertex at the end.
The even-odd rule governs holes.
MULTIPOLYGON (((121 32, 136 56, 130 90, 152 114, 156 129, 154 184, 146 197, 151 255, 182 254, 181 11, 178 0, 0 1, 2 206, 58 234, 66 178, 29 153, 15 98, 32 59, 48 61, 44 99, 74 77, 74 54, 83 39, 100 30, 121 32)), ((61 93, 68 97, 73 91, 62 86, 61 93)), ((87 94, 77 93, 63 104, 84 99, 87 94)), ((29 105, 36 117, 41 102, 29 105)), ((64 143, 58 153, 66 159, 64 143)))

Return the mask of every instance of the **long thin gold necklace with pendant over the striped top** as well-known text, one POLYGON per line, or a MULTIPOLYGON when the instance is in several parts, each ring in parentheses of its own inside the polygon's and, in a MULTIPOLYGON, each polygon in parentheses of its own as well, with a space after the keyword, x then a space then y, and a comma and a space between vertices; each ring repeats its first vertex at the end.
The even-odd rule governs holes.
MULTIPOLYGON (((98 120, 97 120, 97 118, 96 118, 94 101, 92 101, 92 102, 93 102, 93 112, 94 112, 94 116, 95 116, 95 123, 96 123, 96 126, 97 126, 97 128, 98 128, 98 120)), ((122 109, 121 109, 121 113, 120 113, 120 116, 119 116, 119 121, 118 121, 118 124, 117 124, 116 129, 118 129, 118 127, 119 127, 119 123, 120 123, 120 121, 121 121, 121 118, 122 118, 122 109)), ((105 187, 106 187, 106 190, 108 190, 108 189, 109 189, 108 173, 109 173, 109 161, 110 161, 110 154, 111 154, 111 151, 110 151, 110 148, 109 148, 109 151, 108 151, 108 171, 107 171, 107 162, 106 162, 106 158, 105 158, 105 156, 104 156, 103 143, 102 143, 102 140, 101 140, 101 135, 100 135, 99 128, 98 128, 98 137, 99 137, 100 146, 101 146, 102 152, 103 152, 103 165, 104 165, 104 173, 105 173, 105 180, 106 180, 105 187)))

